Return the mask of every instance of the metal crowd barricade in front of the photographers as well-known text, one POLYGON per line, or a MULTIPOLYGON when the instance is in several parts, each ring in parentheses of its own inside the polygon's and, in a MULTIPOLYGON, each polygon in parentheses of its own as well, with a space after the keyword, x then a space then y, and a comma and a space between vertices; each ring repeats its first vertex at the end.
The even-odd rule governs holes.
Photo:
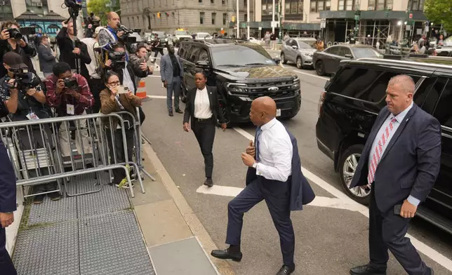
MULTIPOLYGON (((128 113, 130 114, 130 113, 128 113)), ((138 112, 139 116, 139 112, 138 112)), ((131 175, 128 167, 135 168, 135 175, 140 182, 143 193, 145 189, 142 185, 140 173, 154 178, 147 173, 142 165, 141 157, 141 132, 140 123, 130 114, 133 125, 135 147, 135 161, 128 159, 127 140, 125 133, 125 121, 123 116, 118 113, 112 114, 84 114, 79 116, 64 116, 52 119, 37 119, 32 121, 14 121, 0 123, 0 138, 3 140, 8 155, 13 163, 17 185, 21 187, 24 197, 35 196, 38 194, 47 194, 50 192, 62 193, 62 184, 65 185, 65 191, 68 196, 77 196, 99 192, 102 189, 102 177, 100 172, 109 171, 109 181, 113 169, 124 169, 126 180, 128 182, 131 196, 134 196, 131 175), (117 155, 116 148, 109 146, 107 135, 114 142, 114 130, 112 127, 105 127, 102 119, 107 119, 109 126, 112 125, 112 119, 118 119, 122 135, 122 149, 124 149, 124 162, 117 161, 116 157, 110 158, 109 152, 112 150, 114 156, 117 155), (65 125, 65 129, 62 126, 65 125), (69 141, 70 155, 62 156, 62 147, 60 139, 66 137, 69 141), (78 137, 79 146, 74 150, 72 137, 78 137), (91 148, 91 152, 85 152, 86 148, 91 148), (91 163, 91 166, 88 164, 91 163), (95 174, 95 185, 98 189, 80 194, 68 194, 67 187, 73 184, 69 179, 71 177, 95 174), (25 194, 25 187, 44 184, 56 181, 58 188, 49 192, 37 194, 25 194)), ((77 138, 75 138, 77 140, 77 138)))

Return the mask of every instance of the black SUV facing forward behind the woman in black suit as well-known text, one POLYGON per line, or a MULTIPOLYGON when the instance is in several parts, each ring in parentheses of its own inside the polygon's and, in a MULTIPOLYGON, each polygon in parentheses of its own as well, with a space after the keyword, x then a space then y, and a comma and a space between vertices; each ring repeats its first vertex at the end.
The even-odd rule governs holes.
POLYGON ((207 85, 218 88, 228 122, 249 121, 251 102, 265 95, 277 102, 281 119, 291 119, 300 110, 300 79, 260 45, 239 39, 189 39, 180 42, 178 55, 184 67, 182 102, 187 90, 196 87, 194 74, 201 68, 207 85))

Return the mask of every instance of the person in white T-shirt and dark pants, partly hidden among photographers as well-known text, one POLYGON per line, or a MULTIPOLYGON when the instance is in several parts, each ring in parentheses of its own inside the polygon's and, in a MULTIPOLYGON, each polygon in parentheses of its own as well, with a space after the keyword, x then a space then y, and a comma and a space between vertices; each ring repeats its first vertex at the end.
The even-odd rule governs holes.
POLYGON ((98 68, 100 67, 100 57, 99 53, 95 51, 95 48, 99 48, 98 34, 100 29, 102 29, 102 27, 97 27, 95 29, 93 37, 81 39, 81 41, 88 47, 88 54, 91 58, 91 63, 86 65, 86 69, 88 69, 89 74, 89 78, 86 78, 86 80, 88 80, 89 88, 94 97, 93 114, 100 111, 100 91, 104 88, 104 83, 102 83, 102 79, 100 79, 98 71, 98 68))

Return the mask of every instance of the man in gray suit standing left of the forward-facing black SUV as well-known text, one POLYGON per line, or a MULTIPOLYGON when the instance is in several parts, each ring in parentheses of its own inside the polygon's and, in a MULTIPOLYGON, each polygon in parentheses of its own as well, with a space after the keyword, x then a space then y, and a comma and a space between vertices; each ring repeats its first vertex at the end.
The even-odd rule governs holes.
POLYGON ((166 88, 166 105, 168 106, 168 115, 173 116, 173 91, 174 91, 174 110, 178 114, 183 114, 179 109, 180 83, 184 75, 184 69, 179 56, 174 53, 174 46, 168 46, 168 54, 160 60, 161 81, 166 88))

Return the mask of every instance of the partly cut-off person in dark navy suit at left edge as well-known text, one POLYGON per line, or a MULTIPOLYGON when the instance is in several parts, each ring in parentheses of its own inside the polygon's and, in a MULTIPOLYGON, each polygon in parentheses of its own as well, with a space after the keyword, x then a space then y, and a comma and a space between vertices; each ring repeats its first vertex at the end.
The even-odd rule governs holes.
POLYGON ((13 165, 0 139, 0 270, 1 274, 16 275, 13 261, 6 250, 6 227, 14 222, 15 202, 15 173, 13 165))

